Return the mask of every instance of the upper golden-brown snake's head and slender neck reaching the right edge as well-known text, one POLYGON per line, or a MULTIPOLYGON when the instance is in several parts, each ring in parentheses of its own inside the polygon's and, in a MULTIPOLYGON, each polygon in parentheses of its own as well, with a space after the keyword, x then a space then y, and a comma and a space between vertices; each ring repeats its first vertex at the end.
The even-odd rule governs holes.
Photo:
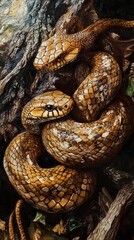
POLYGON ((113 28, 134 28, 134 21, 100 19, 74 34, 66 34, 66 29, 61 27, 51 38, 42 42, 34 66, 45 72, 59 69, 74 61, 82 49, 91 49, 101 33, 113 28))

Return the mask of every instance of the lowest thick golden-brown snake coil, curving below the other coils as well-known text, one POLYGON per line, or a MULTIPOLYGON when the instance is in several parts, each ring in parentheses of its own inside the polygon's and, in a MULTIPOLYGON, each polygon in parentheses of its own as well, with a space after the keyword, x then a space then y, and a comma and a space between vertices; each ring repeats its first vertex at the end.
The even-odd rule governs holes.
POLYGON ((42 169, 37 164, 42 149, 40 137, 30 133, 22 133, 10 143, 4 167, 15 189, 44 211, 67 211, 83 204, 94 192, 94 175, 63 165, 42 169))

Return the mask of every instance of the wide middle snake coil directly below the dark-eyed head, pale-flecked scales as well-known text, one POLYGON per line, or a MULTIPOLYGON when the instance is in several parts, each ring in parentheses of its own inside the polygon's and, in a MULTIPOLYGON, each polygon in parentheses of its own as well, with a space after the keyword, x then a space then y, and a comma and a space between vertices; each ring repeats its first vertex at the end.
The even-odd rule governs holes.
POLYGON ((72 119, 48 123, 42 138, 46 150, 65 165, 96 167, 119 152, 131 129, 127 106, 116 101, 92 123, 72 119))

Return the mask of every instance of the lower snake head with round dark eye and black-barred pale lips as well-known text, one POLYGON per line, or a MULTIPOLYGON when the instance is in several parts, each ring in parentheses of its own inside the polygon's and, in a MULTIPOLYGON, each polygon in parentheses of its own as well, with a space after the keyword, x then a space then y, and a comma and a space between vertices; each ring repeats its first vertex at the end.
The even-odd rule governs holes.
POLYGON ((21 120, 25 129, 31 133, 40 133, 40 123, 64 117, 73 108, 73 100, 61 91, 42 93, 23 108, 21 120))

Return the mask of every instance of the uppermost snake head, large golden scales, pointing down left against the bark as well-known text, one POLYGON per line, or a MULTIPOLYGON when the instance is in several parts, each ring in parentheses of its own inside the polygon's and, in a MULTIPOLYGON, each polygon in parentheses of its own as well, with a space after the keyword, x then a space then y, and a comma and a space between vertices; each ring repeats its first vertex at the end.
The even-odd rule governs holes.
POLYGON ((57 33, 42 42, 34 60, 35 68, 50 72, 75 60, 81 50, 81 45, 73 36, 73 34, 57 33))

